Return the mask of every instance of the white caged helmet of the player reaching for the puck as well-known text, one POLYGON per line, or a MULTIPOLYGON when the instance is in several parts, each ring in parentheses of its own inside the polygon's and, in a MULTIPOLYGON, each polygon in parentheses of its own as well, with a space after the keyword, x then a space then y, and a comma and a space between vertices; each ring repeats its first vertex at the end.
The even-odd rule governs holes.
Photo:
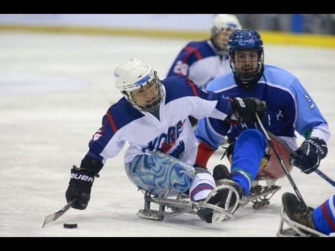
POLYGON ((139 111, 154 112, 163 101, 163 88, 154 68, 141 59, 131 59, 114 71, 115 86, 121 91, 126 100, 139 111), (147 105, 140 106, 135 102, 131 92, 140 90, 149 83, 156 87, 154 100, 147 105))

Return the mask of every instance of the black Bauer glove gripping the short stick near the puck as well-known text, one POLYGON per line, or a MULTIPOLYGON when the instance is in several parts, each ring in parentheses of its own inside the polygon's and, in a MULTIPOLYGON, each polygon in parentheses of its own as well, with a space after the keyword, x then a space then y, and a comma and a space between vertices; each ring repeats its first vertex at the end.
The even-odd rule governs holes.
POLYGON ((87 169, 81 169, 73 165, 71 169, 71 178, 66 190, 66 201, 77 198, 73 208, 84 210, 91 199, 91 187, 94 182, 94 174, 87 172, 87 169))

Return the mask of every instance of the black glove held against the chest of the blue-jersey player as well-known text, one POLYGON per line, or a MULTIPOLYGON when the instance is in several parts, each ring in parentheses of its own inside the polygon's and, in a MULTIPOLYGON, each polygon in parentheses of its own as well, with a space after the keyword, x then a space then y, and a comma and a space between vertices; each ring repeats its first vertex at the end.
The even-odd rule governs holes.
POLYGON ((255 113, 258 113, 262 120, 267 109, 267 102, 258 98, 230 98, 232 109, 228 116, 228 122, 234 126, 241 123, 256 122, 255 113))

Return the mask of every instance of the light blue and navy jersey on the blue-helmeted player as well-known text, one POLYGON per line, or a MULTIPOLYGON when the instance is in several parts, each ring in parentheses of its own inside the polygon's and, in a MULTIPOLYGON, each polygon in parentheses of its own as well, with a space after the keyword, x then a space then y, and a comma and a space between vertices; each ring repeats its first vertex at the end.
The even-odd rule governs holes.
MULTIPOLYGON (((226 73, 209 82, 207 90, 230 98, 255 97, 265 100, 265 129, 281 137, 292 149, 297 149, 295 130, 305 138, 318 137, 325 142, 329 139, 327 121, 299 79, 288 70, 265 65, 258 84, 250 91, 237 86, 233 73, 226 73)), ((218 149, 226 135, 234 140, 243 130, 258 127, 257 123, 231 126, 228 121, 204 118, 198 121, 195 135, 211 148, 218 149)))

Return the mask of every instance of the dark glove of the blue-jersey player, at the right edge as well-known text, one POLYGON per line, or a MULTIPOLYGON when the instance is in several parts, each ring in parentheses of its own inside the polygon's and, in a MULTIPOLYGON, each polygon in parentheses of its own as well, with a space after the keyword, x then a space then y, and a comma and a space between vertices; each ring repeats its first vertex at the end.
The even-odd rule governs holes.
POLYGON ((290 155, 291 165, 295 165, 305 174, 311 174, 320 165, 320 160, 326 157, 328 153, 327 144, 323 139, 311 137, 302 142, 297 149, 298 157, 290 155))

